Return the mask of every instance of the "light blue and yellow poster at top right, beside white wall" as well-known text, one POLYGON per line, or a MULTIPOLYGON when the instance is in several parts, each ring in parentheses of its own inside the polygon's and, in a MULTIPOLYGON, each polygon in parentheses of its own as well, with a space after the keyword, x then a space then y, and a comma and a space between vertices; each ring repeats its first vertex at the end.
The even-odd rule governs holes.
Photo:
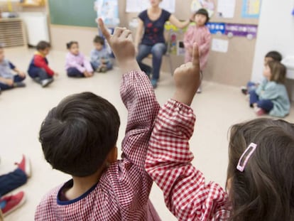
POLYGON ((259 18, 261 0, 243 0, 242 18, 259 18))

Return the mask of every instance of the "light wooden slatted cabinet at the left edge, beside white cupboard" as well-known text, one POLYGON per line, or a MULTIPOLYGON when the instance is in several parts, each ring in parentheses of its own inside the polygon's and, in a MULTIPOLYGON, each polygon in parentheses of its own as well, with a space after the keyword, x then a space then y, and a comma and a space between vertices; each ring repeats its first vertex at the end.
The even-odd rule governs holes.
POLYGON ((20 18, 0 18, 0 44, 4 48, 26 46, 26 35, 20 18))

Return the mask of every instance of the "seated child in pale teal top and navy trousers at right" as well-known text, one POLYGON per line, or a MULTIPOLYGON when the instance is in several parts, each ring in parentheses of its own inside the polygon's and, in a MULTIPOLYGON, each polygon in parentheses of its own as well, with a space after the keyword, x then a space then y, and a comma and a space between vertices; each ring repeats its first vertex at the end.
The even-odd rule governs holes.
POLYGON ((290 101, 285 88, 286 68, 278 61, 270 61, 263 70, 265 79, 256 90, 249 91, 249 104, 258 116, 269 113, 285 117, 290 112, 290 101))

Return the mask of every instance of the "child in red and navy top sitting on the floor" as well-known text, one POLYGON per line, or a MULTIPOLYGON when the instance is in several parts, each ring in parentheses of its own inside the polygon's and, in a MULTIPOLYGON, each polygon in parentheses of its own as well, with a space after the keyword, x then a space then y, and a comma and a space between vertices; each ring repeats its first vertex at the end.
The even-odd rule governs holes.
POLYGON ((46 55, 49 54, 50 47, 50 43, 40 41, 36 47, 37 51, 33 55, 33 59, 28 67, 28 75, 40 83, 42 87, 50 85, 53 82, 53 76, 58 75, 57 72, 54 72, 48 66, 46 55))

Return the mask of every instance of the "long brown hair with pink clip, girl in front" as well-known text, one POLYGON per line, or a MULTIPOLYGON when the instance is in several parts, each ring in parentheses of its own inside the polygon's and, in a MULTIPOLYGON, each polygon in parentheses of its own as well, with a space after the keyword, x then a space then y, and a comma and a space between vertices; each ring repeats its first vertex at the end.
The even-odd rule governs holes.
POLYGON ((227 179, 230 220, 294 220, 294 124, 281 119, 254 119, 235 124, 229 141, 227 179), (253 142, 256 150, 243 172, 239 158, 253 142))

